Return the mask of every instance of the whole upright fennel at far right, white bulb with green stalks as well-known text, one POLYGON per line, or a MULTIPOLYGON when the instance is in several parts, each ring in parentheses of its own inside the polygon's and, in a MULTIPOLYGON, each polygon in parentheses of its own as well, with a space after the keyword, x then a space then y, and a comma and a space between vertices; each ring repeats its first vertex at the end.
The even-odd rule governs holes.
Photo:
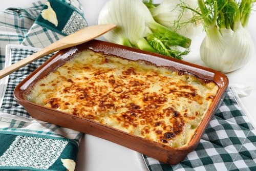
POLYGON ((208 67, 228 73, 253 57, 254 45, 247 30, 253 2, 198 0, 207 34, 200 46, 200 57, 208 67))

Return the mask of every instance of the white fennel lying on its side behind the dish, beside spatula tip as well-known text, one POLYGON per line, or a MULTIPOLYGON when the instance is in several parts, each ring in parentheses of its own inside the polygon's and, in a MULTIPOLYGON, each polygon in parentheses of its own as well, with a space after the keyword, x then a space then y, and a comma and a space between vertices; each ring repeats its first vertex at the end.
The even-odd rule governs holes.
POLYGON ((116 24, 105 33, 106 40, 119 45, 136 47, 181 59, 189 51, 191 39, 155 22, 150 11, 140 0, 110 0, 99 13, 98 24, 116 24))

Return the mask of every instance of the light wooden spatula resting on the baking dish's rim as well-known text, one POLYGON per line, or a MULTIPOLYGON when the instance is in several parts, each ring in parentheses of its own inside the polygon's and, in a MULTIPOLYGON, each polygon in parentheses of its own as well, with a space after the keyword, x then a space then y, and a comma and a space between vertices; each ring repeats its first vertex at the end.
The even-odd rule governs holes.
POLYGON ((80 45, 83 42, 92 40, 108 31, 116 27, 114 24, 104 24, 104 25, 96 25, 96 26, 90 26, 83 28, 81 30, 78 30, 75 33, 72 33, 66 37, 63 37, 62 39, 59 39, 58 41, 55 41, 53 44, 49 45, 48 47, 34 53, 33 55, 22 59, 13 65, 6 67, 5 69, 0 71, 0 79, 13 73, 14 71, 26 66, 27 64, 44 57, 46 55, 49 55, 53 52, 59 51, 61 49, 66 49, 72 46, 80 45))

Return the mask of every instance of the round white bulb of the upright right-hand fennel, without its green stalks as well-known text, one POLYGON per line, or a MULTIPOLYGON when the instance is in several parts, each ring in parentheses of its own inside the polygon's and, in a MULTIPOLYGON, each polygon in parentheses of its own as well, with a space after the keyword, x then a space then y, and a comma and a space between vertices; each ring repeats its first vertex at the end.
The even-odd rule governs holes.
POLYGON ((206 65, 224 73, 243 67, 253 57, 254 45, 247 28, 240 23, 236 31, 206 29, 200 46, 200 57, 206 65))

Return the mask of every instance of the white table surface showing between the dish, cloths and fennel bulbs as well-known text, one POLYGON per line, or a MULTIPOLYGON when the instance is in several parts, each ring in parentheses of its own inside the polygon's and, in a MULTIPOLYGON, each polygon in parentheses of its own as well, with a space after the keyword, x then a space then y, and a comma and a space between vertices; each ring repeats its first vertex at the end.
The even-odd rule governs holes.
MULTIPOLYGON (((27 3, 36 1, 37 0, 4 0, 1 1, 0 10, 5 10, 8 7, 23 7, 27 3)), ((89 26, 97 25, 98 14, 107 1, 108 0, 80 0, 89 26)), ((162 1, 155 0, 154 2, 160 3, 162 1)), ((256 10, 255 7, 254 10, 256 10)), ((254 41, 254 47, 256 47, 255 17, 256 11, 252 11, 249 21, 249 31, 254 41)), ((184 58, 184 60, 205 66, 199 56, 199 47, 204 35, 205 33, 201 33, 197 37, 193 38, 191 52, 184 58)), ((102 36, 98 39, 104 40, 102 36)), ((226 75, 229 78, 230 84, 237 83, 242 84, 243 86, 253 87, 253 91, 250 96, 243 97, 241 100, 245 105, 245 108, 250 113, 251 118, 256 121, 254 108, 256 105, 256 53, 254 53, 254 58, 251 59, 246 66, 226 75)), ((84 135, 80 143, 76 170, 128 171, 142 170, 142 167, 139 163, 137 152, 101 138, 84 135)))

